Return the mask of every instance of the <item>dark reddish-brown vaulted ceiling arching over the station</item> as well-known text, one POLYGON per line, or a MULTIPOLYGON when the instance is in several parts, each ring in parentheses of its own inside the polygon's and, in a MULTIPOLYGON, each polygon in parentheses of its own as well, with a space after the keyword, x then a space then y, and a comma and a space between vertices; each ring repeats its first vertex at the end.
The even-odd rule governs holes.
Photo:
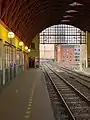
POLYGON ((0 0, 0 19, 29 45, 37 33, 55 24, 90 31, 90 0, 0 0))

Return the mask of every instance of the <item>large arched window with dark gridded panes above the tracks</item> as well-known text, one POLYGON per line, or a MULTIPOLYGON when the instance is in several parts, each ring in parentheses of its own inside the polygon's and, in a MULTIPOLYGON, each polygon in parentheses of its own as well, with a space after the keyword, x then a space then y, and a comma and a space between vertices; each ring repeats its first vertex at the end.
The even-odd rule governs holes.
POLYGON ((46 44, 85 44, 86 34, 71 25, 54 25, 40 33, 40 43, 46 44))

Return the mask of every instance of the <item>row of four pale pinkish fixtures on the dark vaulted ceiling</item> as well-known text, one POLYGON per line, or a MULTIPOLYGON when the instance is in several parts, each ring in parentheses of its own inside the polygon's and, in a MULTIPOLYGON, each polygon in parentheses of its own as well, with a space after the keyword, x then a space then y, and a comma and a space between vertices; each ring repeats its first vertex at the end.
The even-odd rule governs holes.
MULTIPOLYGON (((70 7, 76 7, 76 6, 82 6, 82 5, 83 4, 77 3, 77 2, 69 4, 70 7)), ((66 13, 76 13, 76 12, 78 12, 78 11, 76 11, 76 10, 67 10, 66 11, 66 13)), ((63 16, 63 18, 72 18, 72 17, 73 16, 71 16, 71 15, 65 15, 65 16, 63 16)), ((61 22, 70 22, 70 20, 69 19, 63 19, 63 20, 61 20, 61 22)))

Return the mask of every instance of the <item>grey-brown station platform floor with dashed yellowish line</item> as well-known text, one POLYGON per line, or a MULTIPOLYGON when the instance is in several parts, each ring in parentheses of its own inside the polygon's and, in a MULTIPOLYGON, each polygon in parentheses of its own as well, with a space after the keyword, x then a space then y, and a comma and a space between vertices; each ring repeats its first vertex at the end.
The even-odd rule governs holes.
POLYGON ((55 120, 42 71, 19 74, 0 93, 0 120, 55 120))

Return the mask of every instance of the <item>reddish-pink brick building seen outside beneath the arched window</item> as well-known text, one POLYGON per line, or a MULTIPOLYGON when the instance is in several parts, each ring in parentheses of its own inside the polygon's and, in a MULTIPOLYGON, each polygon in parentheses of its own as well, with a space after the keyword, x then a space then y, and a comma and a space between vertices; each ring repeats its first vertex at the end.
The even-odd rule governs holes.
POLYGON ((79 60, 76 61, 76 47, 74 45, 56 45, 56 59, 58 62, 69 64, 79 63, 79 60))

